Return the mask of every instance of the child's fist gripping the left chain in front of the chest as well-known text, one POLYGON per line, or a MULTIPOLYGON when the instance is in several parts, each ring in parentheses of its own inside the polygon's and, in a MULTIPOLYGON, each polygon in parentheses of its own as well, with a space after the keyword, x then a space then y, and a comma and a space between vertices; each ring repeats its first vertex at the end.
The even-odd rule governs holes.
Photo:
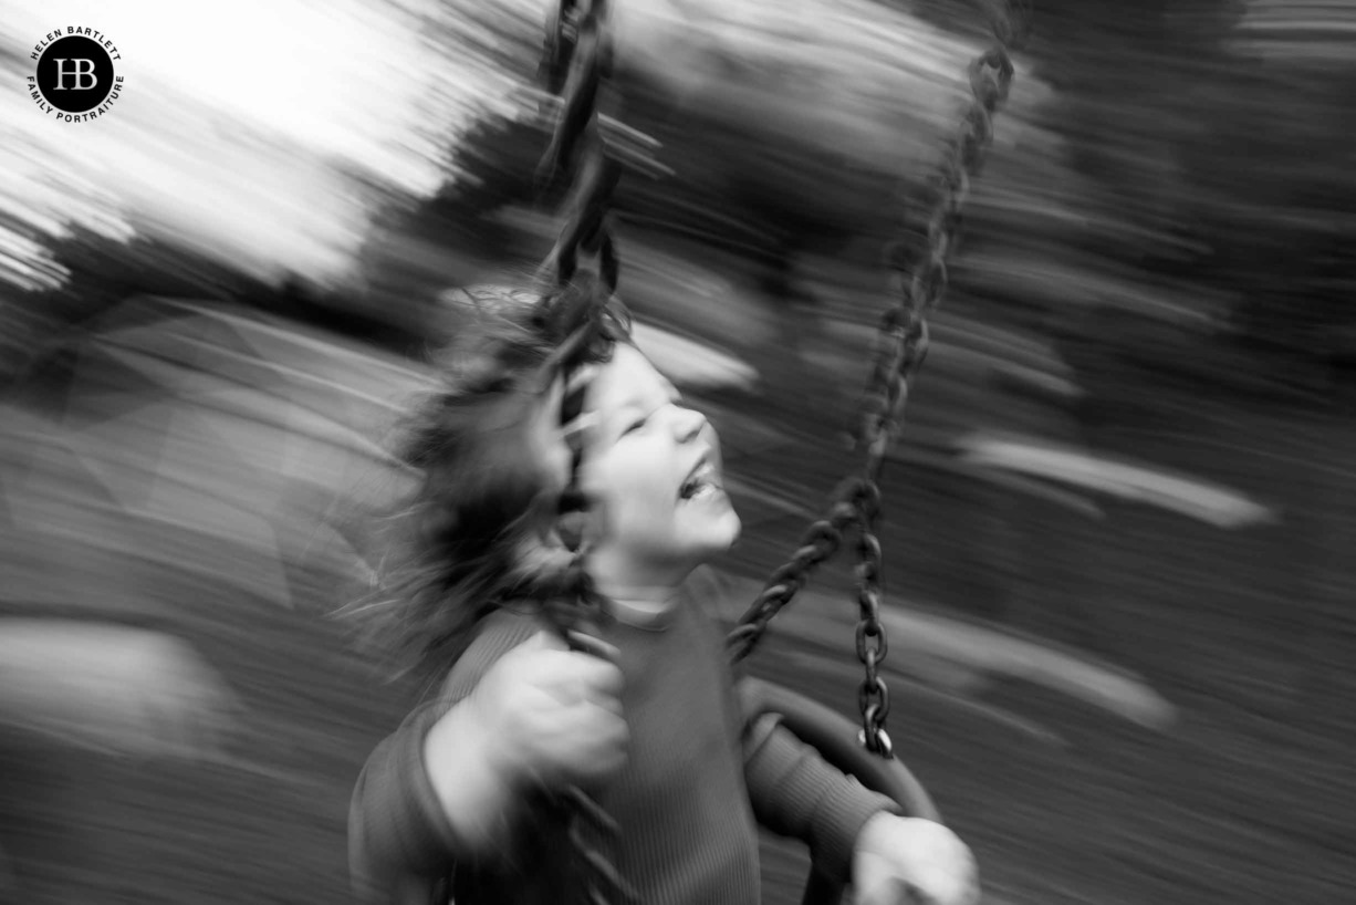
POLYGON ((587 784, 626 761, 621 687, 614 663, 541 632, 504 654, 468 703, 510 783, 587 784))

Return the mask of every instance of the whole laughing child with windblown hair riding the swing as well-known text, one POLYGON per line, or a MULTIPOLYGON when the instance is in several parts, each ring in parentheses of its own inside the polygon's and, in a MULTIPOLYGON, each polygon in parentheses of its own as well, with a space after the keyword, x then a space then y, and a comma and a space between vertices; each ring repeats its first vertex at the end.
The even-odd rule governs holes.
POLYGON ((404 578, 374 608, 442 692, 354 792, 351 862, 372 901, 575 901, 541 803, 578 786, 618 825, 609 853, 645 905, 755 905, 755 824, 807 841, 862 905, 976 902, 951 830, 740 712, 698 569, 740 528, 706 419, 624 328, 563 368, 534 294, 456 294, 475 323, 401 450, 422 480, 395 551, 404 578), (582 559, 557 514, 568 487, 587 501, 582 559), (580 562, 606 657, 568 649, 533 602, 580 562))

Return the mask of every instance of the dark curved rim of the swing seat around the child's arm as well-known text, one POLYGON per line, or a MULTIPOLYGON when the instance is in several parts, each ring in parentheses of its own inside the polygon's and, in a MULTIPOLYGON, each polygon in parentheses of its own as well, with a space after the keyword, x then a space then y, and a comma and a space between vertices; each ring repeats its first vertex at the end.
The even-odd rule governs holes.
MULTIPOLYGON (((846 716, 782 685, 743 678, 738 685, 744 714, 781 716, 781 723, 800 741, 815 748, 829 763, 854 776, 866 788, 887 795, 906 817, 941 822, 941 815, 922 784, 898 760, 872 754, 857 741, 858 727, 846 716)), ((801 905, 838 905, 843 885, 811 864, 801 905)))

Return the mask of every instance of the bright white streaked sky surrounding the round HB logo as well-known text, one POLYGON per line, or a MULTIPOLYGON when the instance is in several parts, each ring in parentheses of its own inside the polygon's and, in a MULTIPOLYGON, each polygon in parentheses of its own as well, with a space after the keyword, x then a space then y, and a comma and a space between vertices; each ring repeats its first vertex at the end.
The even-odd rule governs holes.
MULTIPOLYGON (((0 91, 0 213, 57 236, 96 216, 339 280, 370 213, 354 174, 420 194, 439 179, 426 129, 453 125, 428 109, 447 61, 408 18, 434 3, 0 0, 0 49, 22 54, 0 91), (71 24, 122 54, 125 91, 92 122, 56 122, 24 90, 34 43, 71 24)), ((0 280, 43 281, 27 246, 0 227, 0 280)))

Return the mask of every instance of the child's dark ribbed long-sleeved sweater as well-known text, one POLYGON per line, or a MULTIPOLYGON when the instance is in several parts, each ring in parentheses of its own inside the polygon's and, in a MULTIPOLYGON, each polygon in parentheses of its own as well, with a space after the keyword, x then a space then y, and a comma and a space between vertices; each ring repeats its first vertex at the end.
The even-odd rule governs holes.
MULTIPOLYGON (((369 901, 423 905, 443 894, 456 841, 423 767, 423 738, 500 655, 540 630, 523 615, 485 619, 443 693, 367 760, 350 852, 369 901)), ((663 625, 607 620, 601 635, 621 650, 631 745, 626 767, 595 798, 621 828, 613 858, 640 902, 755 905, 755 821, 804 840, 826 872, 848 878, 857 833, 892 802, 826 765, 776 720, 743 718, 719 632, 697 604, 663 625)), ((534 809, 530 825, 521 824, 507 863, 456 866, 457 905, 579 901, 559 822, 534 809)))

